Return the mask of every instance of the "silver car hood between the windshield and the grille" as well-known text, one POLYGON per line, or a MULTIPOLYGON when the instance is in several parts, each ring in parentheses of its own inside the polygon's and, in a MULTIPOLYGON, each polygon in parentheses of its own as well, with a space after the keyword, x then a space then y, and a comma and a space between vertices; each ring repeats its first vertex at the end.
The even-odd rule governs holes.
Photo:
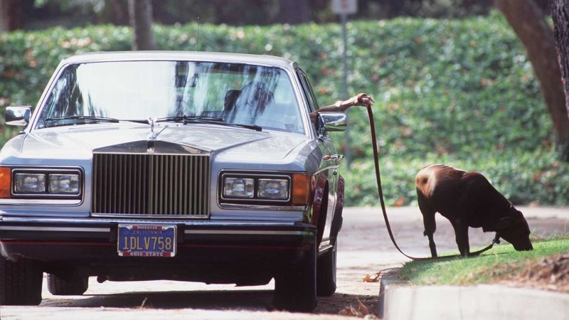
MULTIPOLYGON (((148 142, 152 142, 164 152, 179 147, 191 153, 225 152, 249 159, 284 159, 306 141, 307 137, 301 134, 208 124, 159 124, 151 139, 147 124, 88 124, 34 130, 23 139, 20 151, 26 156, 90 157, 93 151, 146 152, 148 142)), ((156 152, 162 151, 157 148, 156 152)))

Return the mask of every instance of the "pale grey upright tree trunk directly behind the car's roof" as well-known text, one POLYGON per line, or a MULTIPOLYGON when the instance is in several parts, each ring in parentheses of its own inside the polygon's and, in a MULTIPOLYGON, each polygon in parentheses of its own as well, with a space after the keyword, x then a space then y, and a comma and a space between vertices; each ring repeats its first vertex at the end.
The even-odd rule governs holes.
POLYGON ((133 30, 132 50, 156 50, 152 36, 152 4, 150 0, 129 0, 130 25, 133 30))

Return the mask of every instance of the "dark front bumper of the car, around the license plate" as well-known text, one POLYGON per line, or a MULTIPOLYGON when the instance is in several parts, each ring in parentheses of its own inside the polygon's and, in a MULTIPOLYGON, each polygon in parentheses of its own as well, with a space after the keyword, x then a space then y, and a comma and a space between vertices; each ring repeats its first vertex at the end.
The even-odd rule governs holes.
POLYGON ((83 262, 86 265, 154 261, 119 257, 119 224, 176 225, 176 257, 167 262, 235 262, 262 256, 282 260, 309 250, 314 225, 299 222, 220 220, 132 220, 104 218, 16 218, 0 220, 0 250, 10 260, 83 262))

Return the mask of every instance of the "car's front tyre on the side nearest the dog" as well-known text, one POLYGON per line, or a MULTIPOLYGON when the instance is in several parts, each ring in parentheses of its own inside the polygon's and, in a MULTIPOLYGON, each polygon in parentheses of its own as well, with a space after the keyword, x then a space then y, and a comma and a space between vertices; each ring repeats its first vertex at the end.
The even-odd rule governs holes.
POLYGON ((275 277, 275 307, 309 312, 316 308, 316 244, 302 262, 282 270, 275 277))

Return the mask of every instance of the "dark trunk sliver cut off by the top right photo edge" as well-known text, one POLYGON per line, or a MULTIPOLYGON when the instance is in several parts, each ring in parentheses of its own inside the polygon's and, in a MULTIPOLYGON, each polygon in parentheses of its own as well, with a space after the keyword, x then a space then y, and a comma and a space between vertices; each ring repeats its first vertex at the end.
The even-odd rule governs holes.
POLYGON ((569 113, 569 2, 551 0, 551 16, 555 26, 561 80, 565 89, 565 107, 569 113))

